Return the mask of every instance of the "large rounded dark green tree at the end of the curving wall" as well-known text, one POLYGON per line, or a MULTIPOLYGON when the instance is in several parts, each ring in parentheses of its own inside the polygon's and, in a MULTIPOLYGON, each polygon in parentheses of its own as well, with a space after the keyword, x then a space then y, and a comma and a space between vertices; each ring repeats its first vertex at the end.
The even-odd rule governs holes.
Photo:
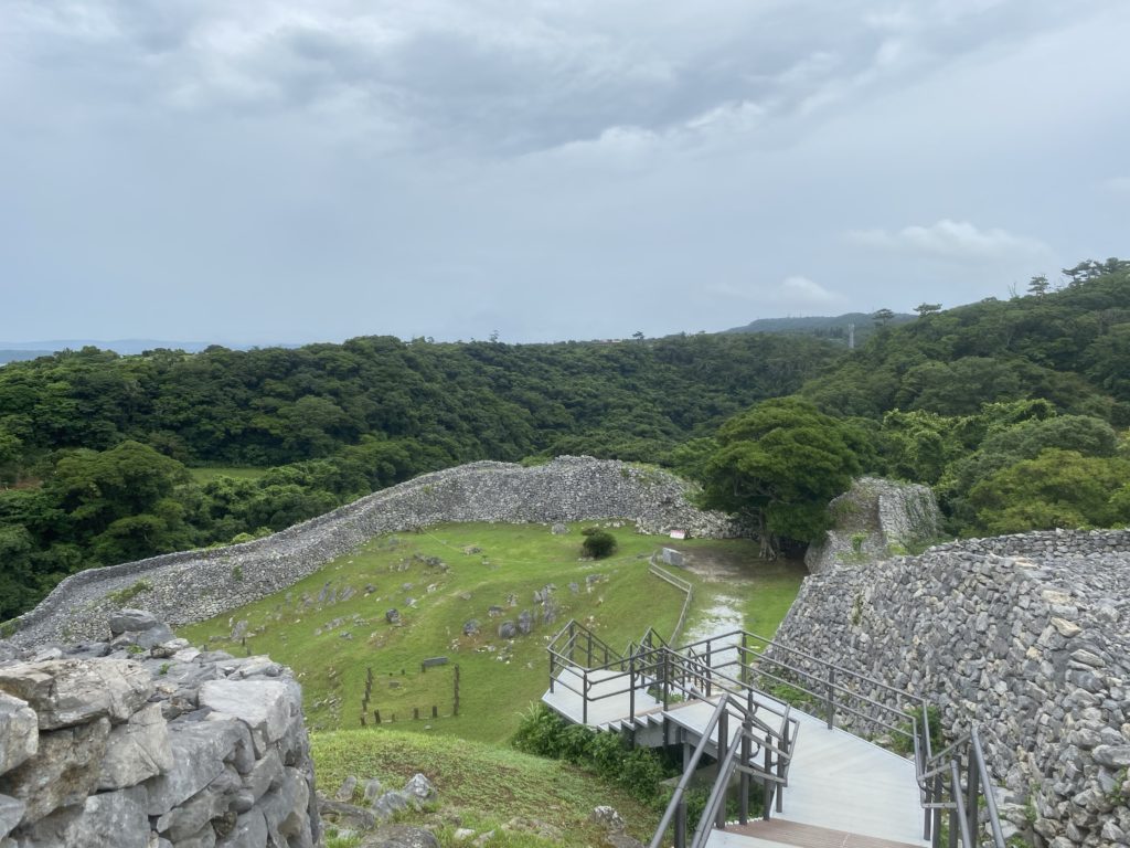
POLYGON ((799 398, 766 400, 725 422, 703 470, 707 507, 758 529, 762 553, 806 543, 828 528, 827 504, 851 486, 870 444, 852 423, 799 398))

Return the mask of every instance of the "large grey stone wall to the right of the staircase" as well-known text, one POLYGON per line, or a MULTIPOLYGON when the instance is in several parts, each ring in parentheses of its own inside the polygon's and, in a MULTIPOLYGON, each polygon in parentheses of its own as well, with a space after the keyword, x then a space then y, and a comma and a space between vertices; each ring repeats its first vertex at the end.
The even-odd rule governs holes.
POLYGON ((972 539, 812 576, 777 639, 928 696, 950 736, 977 722, 1035 843, 1130 845, 1130 531, 972 539))

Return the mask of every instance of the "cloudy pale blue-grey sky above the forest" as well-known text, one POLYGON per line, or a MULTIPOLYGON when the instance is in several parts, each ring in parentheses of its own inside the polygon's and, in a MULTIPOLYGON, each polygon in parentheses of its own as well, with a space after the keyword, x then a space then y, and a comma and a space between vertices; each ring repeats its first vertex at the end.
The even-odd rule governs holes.
POLYGON ((1124 0, 6 0, 0 339, 502 341, 1130 256, 1124 0))

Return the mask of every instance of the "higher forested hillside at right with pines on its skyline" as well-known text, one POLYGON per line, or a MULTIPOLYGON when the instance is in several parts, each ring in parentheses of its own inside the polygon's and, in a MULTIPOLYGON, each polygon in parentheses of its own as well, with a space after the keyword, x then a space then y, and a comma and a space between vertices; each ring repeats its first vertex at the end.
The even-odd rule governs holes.
POLYGON ((834 415, 890 409, 942 415, 1045 398, 1057 408, 1130 423, 1130 262, 1083 263, 1070 283, 1023 297, 886 327, 802 393, 834 415))

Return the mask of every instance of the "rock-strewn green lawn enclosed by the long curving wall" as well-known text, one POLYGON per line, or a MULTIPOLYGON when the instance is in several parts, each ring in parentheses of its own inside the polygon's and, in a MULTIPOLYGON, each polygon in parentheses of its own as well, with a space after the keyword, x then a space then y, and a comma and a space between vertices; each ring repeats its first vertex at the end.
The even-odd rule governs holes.
MULTIPOLYGON (((647 557, 672 544, 669 539, 612 529, 617 552, 582 561, 580 527, 555 536, 540 525, 445 525, 374 538, 290 589, 184 628, 180 635, 289 665, 303 684, 315 730, 360 726, 372 673, 366 721, 371 726, 380 710, 383 724, 370 733, 392 727, 501 742, 545 691, 546 643, 570 618, 623 648, 647 626, 669 634, 681 608, 681 592, 647 573, 647 557), (539 622, 530 635, 501 639, 499 624, 516 622, 524 609, 538 611, 533 592, 547 585, 556 587, 557 620, 539 622), (385 621, 390 608, 400 612, 399 624, 385 621), (470 620, 479 622, 480 632, 464 635, 470 620), (245 643, 229 638, 241 621, 247 622, 245 643), (433 657, 449 661, 421 672, 420 663, 433 657), (453 715, 457 666, 459 716, 453 715), (412 720, 414 708, 419 720, 412 720)), ((740 563, 742 578, 759 587, 746 607, 748 623, 766 635, 775 631, 799 586, 796 568, 758 561, 757 546, 747 540, 677 545, 690 556, 701 552, 740 563)), ((712 603, 716 583, 686 571, 680 576, 695 585, 696 606, 712 603)))

